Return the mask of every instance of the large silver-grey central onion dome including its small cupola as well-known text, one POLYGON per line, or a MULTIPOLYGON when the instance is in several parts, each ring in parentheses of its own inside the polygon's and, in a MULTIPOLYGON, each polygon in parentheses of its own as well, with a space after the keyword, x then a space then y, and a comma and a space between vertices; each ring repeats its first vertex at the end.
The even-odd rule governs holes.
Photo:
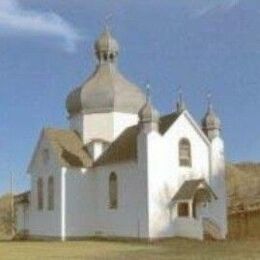
POLYGON ((70 116, 78 113, 124 112, 137 114, 145 103, 142 91, 118 71, 117 41, 106 29, 95 43, 98 65, 90 78, 67 98, 70 116))

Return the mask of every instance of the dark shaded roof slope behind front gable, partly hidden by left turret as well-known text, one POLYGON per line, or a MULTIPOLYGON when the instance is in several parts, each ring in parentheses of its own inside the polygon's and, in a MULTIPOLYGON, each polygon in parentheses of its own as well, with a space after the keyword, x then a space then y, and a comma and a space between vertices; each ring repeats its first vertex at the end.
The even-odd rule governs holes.
MULTIPOLYGON (((160 118, 159 131, 164 134, 176 121, 179 114, 172 113, 160 118)), ((94 162, 94 166, 113 164, 120 161, 135 160, 137 158, 137 135, 138 126, 127 128, 94 162)))

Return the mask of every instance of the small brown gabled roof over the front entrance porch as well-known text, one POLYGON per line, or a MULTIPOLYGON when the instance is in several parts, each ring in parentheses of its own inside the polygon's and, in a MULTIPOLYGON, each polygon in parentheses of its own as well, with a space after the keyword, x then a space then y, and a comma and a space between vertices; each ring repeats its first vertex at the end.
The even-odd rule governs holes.
POLYGON ((208 195, 211 195, 213 198, 217 199, 216 194, 213 192, 207 182, 204 179, 197 179, 185 181, 172 198, 172 201, 193 199, 196 192, 200 189, 207 191, 208 195))

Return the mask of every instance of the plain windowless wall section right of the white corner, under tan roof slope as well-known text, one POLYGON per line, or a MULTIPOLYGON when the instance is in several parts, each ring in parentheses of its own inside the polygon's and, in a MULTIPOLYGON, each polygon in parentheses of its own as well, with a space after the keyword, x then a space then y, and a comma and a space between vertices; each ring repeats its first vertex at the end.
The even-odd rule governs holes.
POLYGON ((66 172, 66 236, 93 236, 96 226, 96 176, 92 170, 66 172))

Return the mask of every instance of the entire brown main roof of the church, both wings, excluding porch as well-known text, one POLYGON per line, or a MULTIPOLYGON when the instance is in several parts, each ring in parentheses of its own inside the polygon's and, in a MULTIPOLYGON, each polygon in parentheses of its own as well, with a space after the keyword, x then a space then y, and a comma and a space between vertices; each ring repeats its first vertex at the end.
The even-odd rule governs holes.
MULTIPOLYGON (((161 117, 159 131, 164 134, 176 121, 178 114, 172 113, 161 117)), ((138 126, 127 128, 94 163, 84 147, 80 136, 72 130, 44 129, 59 162, 65 167, 91 167, 135 160, 137 158, 138 126)))

